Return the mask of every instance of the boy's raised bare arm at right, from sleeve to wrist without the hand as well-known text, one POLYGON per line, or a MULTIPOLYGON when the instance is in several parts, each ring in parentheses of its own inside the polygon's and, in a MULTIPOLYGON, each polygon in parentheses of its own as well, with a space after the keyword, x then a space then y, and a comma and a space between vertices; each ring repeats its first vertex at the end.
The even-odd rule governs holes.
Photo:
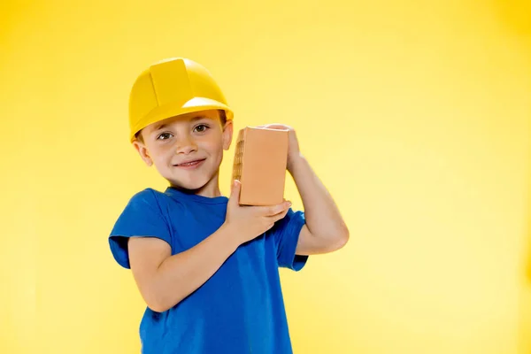
POLYGON ((341 249, 349 240, 349 230, 332 196, 298 151, 290 157, 288 171, 303 200, 306 219, 296 254, 312 255, 341 249))

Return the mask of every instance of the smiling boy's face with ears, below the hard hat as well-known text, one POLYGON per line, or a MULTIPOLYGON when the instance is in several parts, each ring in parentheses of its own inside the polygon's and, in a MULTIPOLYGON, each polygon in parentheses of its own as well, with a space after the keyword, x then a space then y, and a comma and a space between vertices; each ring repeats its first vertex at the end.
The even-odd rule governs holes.
POLYGON ((173 186, 201 189, 217 177, 232 134, 232 121, 223 129, 219 111, 202 111, 153 123, 134 145, 146 165, 155 165, 173 186))

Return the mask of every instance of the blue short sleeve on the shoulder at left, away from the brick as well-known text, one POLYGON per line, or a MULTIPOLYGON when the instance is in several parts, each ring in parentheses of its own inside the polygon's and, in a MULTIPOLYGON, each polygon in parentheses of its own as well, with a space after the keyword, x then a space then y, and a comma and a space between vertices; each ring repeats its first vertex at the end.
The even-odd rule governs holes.
POLYGON ((172 244, 170 227, 151 189, 144 189, 129 200, 109 236, 112 256, 127 269, 131 267, 127 242, 132 236, 157 237, 172 244))

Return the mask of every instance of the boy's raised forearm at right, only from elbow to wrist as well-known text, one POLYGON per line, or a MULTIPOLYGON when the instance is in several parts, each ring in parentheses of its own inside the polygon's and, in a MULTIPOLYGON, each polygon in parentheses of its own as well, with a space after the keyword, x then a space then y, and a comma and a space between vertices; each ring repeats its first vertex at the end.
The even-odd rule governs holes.
POLYGON ((332 243, 346 242, 349 232, 341 213, 306 158, 299 155, 289 161, 288 171, 303 201, 306 226, 312 235, 332 243))

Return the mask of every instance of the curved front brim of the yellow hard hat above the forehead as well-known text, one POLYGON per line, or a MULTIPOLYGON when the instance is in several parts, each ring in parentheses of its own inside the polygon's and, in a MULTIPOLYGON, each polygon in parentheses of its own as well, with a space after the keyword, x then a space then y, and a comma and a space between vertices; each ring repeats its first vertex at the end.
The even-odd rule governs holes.
POLYGON ((136 127, 134 127, 129 136, 131 142, 135 141, 135 135, 141 131, 144 127, 148 127, 150 124, 158 121, 177 117, 181 114, 187 114, 192 112, 201 112, 207 110, 223 110, 227 114, 227 120, 234 118, 234 112, 227 106, 219 101, 212 100, 205 97, 194 97, 187 101, 185 104, 166 104, 165 106, 159 106, 153 109, 151 112, 141 119, 136 127))

